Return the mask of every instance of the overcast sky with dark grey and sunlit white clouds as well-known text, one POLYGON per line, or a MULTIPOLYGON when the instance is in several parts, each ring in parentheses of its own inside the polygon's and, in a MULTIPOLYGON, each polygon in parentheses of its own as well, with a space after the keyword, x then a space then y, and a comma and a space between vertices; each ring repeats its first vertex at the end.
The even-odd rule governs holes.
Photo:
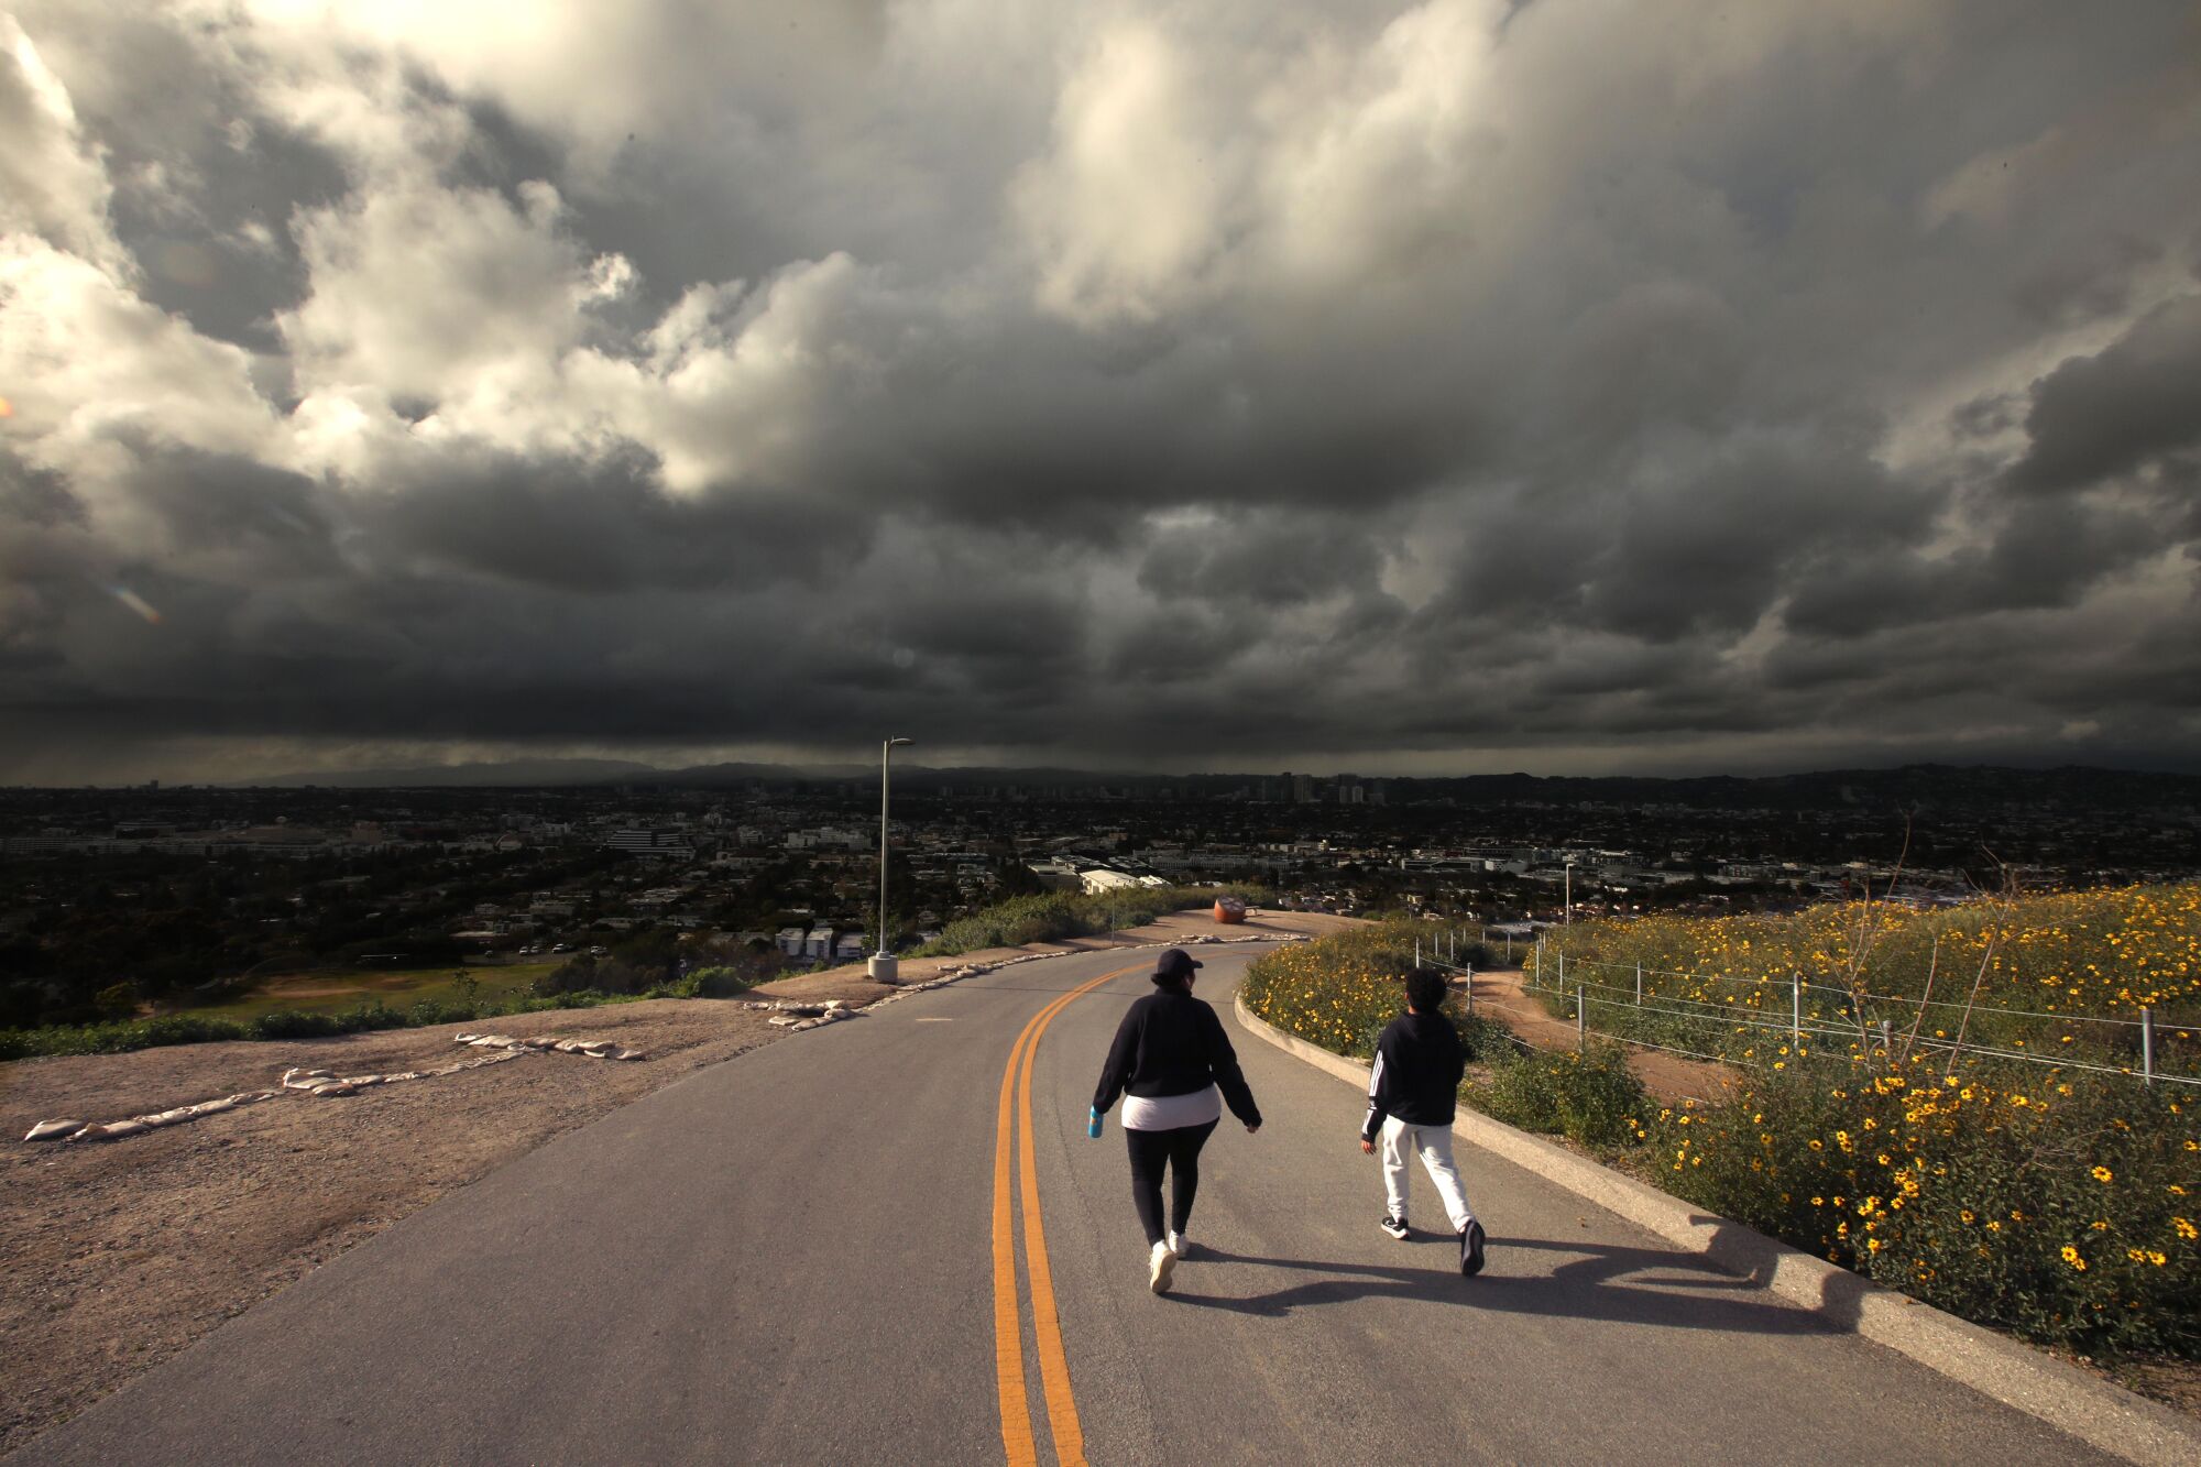
POLYGON ((2201 769, 2201 20, 0 0, 0 782, 2201 769))

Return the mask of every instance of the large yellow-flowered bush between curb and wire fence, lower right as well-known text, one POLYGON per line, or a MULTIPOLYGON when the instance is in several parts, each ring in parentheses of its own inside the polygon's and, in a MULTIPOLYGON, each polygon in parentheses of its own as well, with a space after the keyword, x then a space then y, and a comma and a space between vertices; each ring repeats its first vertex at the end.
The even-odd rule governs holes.
POLYGON ((1666 1189, 1979 1324, 2201 1355, 2197 1097, 2001 1066, 1763 1075, 1638 1128, 1666 1189))

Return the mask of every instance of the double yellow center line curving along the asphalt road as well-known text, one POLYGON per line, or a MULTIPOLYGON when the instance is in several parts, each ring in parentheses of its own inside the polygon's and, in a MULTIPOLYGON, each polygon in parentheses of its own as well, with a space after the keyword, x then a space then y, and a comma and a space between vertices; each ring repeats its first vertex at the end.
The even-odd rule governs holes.
POLYGON ((1078 1425, 1078 1403, 1070 1394, 1070 1359, 1063 1355, 1063 1326, 1054 1313, 1054 1269, 1048 1267, 1048 1229, 1039 1220, 1039 1170, 1032 1165, 1032 1055, 1039 1035, 1072 1000, 1092 993, 1109 978, 1123 978, 1142 965, 1118 967, 1092 982, 1078 985, 1050 1002, 1017 1035, 1001 1071, 1001 1108, 993 1132, 993 1355, 1001 1390, 1001 1447, 1010 1467, 1034 1467, 1039 1443, 1032 1432, 1032 1399, 1023 1383, 1023 1322, 1017 1308, 1017 1222, 1010 1192, 1010 1101, 1017 1112, 1017 1154, 1023 1170, 1023 1271, 1032 1286, 1032 1335, 1039 1341, 1039 1386, 1048 1399, 1048 1427, 1054 1434, 1054 1460, 1061 1467, 1085 1467, 1085 1427, 1078 1425))

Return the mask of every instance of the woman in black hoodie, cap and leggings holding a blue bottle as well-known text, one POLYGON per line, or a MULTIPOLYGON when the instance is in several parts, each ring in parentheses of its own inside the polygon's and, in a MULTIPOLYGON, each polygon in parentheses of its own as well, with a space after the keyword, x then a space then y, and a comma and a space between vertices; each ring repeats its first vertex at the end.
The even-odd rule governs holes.
MULTIPOLYGON (((1200 1148, 1224 1117, 1261 1130, 1261 1108, 1252 1104, 1237 1051, 1215 1009, 1193 998, 1200 965, 1182 947, 1171 947, 1153 965, 1153 993, 1123 1015, 1100 1086, 1094 1119, 1123 1099, 1123 1137, 1131 1150, 1131 1200, 1147 1229, 1147 1284, 1169 1291, 1169 1275, 1184 1258, 1184 1225, 1200 1189, 1200 1148), (1222 1095, 1217 1097, 1217 1088, 1222 1095), (1162 1167, 1169 1167, 1169 1234, 1162 1234, 1162 1167)), ((1100 1134, 1098 1130, 1094 1134, 1100 1134)))

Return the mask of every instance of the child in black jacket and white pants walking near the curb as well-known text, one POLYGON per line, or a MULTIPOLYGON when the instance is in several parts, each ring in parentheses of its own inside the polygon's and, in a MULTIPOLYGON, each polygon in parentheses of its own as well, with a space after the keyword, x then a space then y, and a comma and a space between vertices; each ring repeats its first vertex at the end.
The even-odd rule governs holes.
POLYGON ((1483 1225, 1468 1207, 1468 1189, 1453 1161, 1453 1110, 1468 1051, 1453 1020, 1444 1018, 1444 974, 1417 967, 1406 974, 1406 1013, 1376 1040, 1376 1073, 1369 1075, 1369 1117, 1360 1123, 1360 1150, 1376 1152, 1382 1139, 1382 1229, 1406 1238, 1406 1159, 1422 1156, 1428 1181, 1437 1183, 1444 1211, 1459 1234, 1459 1271, 1483 1271, 1483 1225))

